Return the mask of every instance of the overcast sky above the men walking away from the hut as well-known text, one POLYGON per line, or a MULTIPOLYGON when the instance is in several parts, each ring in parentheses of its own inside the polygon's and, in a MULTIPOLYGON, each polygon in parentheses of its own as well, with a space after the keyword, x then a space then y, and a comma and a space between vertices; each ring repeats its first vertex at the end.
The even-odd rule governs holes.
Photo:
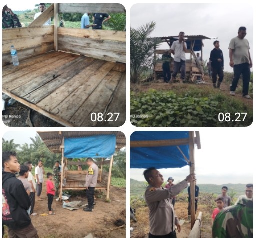
MULTIPOLYGON (((151 37, 175 36, 180 31, 186 35, 217 37, 224 56, 224 71, 232 72, 229 66, 228 45, 237 36, 238 28, 247 28, 246 39, 250 43, 253 61, 253 6, 252 4, 135 4, 130 10, 130 26, 137 29, 151 21, 156 29, 151 37)), ((203 60, 210 56, 214 40, 203 40, 203 60)), ((169 49, 163 43, 159 49, 169 49)), ((187 58, 189 54, 187 54, 187 58)), ((253 70, 253 68, 252 68, 253 70)))

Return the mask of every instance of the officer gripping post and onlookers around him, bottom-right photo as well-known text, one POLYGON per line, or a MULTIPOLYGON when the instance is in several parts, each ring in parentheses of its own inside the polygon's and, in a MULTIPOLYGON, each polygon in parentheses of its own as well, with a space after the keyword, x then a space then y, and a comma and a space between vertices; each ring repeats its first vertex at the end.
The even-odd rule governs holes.
MULTIPOLYGON (((149 208, 149 238, 176 238, 176 229, 181 227, 175 214, 175 196, 188 186, 195 183, 195 212, 199 197, 199 187, 196 185, 194 174, 188 175, 183 181, 173 184, 174 179, 168 178, 165 188, 162 174, 150 167, 143 172, 148 182, 144 198, 149 208), (175 228, 176 226, 176 228, 175 228)), ((191 212, 191 193, 188 187, 188 217, 191 212)), ((245 195, 237 199, 235 205, 230 206, 231 198, 227 195, 228 188, 222 187, 222 194, 217 196, 217 208, 212 212, 212 236, 226 237, 253 237, 253 184, 247 184, 245 195), (236 225, 235 225, 236 224, 236 225), (247 236, 246 236, 247 235, 247 236)))

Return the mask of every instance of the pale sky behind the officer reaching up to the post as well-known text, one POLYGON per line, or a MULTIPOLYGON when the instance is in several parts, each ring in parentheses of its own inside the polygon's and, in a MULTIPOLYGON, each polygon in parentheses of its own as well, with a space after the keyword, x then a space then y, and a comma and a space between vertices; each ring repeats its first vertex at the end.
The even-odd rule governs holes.
MULTIPOLYGON (((197 184, 253 183, 254 140, 247 139, 249 129, 215 128, 200 129, 201 149, 195 147, 195 173, 197 184), (239 132, 240 131, 240 132, 239 132), (247 131, 247 132, 245 132, 247 131), (244 134, 244 136, 243 136, 244 134)), ((160 154, 159 154, 160 156, 160 154)), ((157 162, 157 161, 156 161, 157 162)), ((130 169, 130 178, 145 181, 145 169, 130 169)), ((182 181, 189 174, 189 166, 159 169, 167 181, 182 181)))

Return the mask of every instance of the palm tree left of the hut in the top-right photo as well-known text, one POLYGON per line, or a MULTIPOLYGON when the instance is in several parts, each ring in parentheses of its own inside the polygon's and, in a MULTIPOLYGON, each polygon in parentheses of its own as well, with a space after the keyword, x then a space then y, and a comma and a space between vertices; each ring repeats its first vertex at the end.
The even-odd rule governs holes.
POLYGON ((141 80, 144 67, 153 65, 153 50, 161 43, 159 39, 149 37, 155 27, 156 23, 152 21, 138 29, 130 28, 130 80, 133 83, 141 80))

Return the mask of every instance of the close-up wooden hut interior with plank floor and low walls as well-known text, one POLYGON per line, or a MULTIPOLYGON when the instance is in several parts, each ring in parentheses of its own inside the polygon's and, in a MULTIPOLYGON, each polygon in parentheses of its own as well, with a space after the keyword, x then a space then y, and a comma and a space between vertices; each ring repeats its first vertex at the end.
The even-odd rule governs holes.
POLYGON ((2 90, 64 126, 125 122, 126 32, 58 27, 58 13, 125 12, 121 4, 54 3, 28 27, 2 30, 2 90), (42 26, 54 16, 54 25, 42 26), (46 20, 45 20, 46 19, 46 20), (13 66, 10 46, 18 52, 13 66), (91 120, 102 113, 103 120, 91 120), (109 120, 109 113, 120 113, 109 120))

